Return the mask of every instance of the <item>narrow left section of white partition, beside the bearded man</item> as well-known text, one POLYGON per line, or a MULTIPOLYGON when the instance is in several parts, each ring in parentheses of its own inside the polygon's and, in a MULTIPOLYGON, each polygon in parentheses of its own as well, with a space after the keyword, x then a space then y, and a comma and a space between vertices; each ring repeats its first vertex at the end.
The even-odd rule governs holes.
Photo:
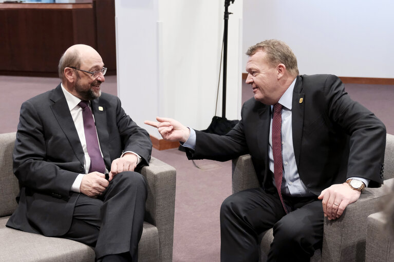
MULTIPOLYGON (((158 1, 116 0, 118 96, 135 122, 159 112, 158 1)), ((157 136, 157 134, 156 134, 157 136)))

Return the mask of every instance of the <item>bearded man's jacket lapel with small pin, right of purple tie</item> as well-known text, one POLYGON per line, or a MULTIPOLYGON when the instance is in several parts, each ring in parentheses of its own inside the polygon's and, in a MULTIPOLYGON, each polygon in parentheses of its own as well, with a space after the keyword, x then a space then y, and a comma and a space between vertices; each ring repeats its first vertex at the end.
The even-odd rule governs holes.
POLYGON ((95 116, 97 135, 99 136, 99 143, 101 152, 103 153, 105 166, 108 170, 111 167, 111 158, 109 156, 109 134, 107 129, 107 114, 106 108, 100 103, 100 98, 90 101, 90 106, 95 116), (108 168, 109 167, 109 168, 108 168))

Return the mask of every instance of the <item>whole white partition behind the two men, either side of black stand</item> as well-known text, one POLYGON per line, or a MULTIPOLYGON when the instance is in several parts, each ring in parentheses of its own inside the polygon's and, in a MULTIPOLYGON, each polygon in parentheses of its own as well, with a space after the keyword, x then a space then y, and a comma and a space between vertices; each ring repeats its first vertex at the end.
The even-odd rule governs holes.
MULTIPOLYGON (((160 115, 207 128, 215 114, 224 0, 116 0, 115 10, 118 94, 126 112, 156 137, 144 119, 160 115)), ((229 10, 226 116, 237 119, 242 1, 229 10)))

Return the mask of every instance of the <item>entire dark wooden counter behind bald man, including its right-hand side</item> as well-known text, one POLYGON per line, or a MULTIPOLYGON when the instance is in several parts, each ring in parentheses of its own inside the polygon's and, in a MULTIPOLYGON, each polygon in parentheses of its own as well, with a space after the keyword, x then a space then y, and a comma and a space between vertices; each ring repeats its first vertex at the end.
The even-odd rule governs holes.
POLYGON ((98 2, 102 1, 108 3, 100 19, 110 21, 108 16, 113 15, 114 23, 112 29, 107 26, 105 32, 100 32, 99 38, 96 1, 93 4, 0 4, 0 74, 57 76, 60 56, 74 44, 89 45, 100 54, 101 49, 105 65, 108 67, 106 58, 112 70, 116 70, 115 3, 114 0, 98 2), (110 10, 110 4, 114 9, 108 15, 105 11, 110 10), (113 39, 108 39, 106 33, 113 39), (110 44, 98 45, 98 39, 110 44))

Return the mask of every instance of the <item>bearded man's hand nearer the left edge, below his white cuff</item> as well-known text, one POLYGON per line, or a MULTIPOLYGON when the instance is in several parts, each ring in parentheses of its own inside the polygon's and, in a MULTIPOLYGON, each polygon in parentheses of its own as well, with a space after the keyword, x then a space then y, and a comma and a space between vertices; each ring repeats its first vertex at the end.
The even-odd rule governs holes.
POLYGON ((79 189, 82 194, 96 198, 103 194, 108 184, 104 174, 91 172, 83 176, 79 189))

